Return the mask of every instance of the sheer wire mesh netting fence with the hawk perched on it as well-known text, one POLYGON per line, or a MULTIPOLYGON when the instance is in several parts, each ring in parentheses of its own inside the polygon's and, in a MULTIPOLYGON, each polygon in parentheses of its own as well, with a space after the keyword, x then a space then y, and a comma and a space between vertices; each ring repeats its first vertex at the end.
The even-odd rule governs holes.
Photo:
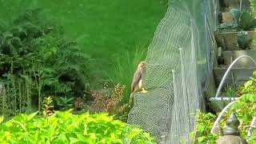
POLYGON ((205 108, 216 5, 209 0, 170 0, 155 31, 146 56, 144 81, 149 92, 134 95, 128 123, 149 131, 158 142, 189 143, 194 115, 205 108))

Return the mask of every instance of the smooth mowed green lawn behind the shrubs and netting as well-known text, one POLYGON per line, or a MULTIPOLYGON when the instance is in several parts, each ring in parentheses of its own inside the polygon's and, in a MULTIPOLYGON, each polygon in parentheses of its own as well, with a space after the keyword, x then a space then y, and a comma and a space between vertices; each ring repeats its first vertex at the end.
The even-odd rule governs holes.
POLYGON ((95 68, 114 78, 116 58, 127 62, 127 53, 133 58, 135 51, 150 44, 167 0, 0 0, 0 18, 14 18, 36 7, 57 19, 66 34, 97 60, 95 68))

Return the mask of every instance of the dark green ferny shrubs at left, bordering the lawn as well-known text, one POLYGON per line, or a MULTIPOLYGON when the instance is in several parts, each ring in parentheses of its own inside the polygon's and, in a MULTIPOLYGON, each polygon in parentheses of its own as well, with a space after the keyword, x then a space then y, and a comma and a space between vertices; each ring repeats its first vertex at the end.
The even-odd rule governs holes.
MULTIPOLYGON (((0 26, 0 80, 3 114, 14 115, 42 103, 42 97, 82 97, 90 59, 62 26, 42 10, 27 10, 0 26), (31 102, 33 99, 34 102, 31 102)), ((38 105, 40 110, 40 105, 38 105)))

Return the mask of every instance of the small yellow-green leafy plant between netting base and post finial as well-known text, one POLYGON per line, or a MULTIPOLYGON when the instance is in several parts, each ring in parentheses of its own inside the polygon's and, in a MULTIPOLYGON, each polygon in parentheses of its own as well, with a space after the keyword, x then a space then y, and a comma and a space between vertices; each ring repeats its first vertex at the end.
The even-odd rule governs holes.
POLYGON ((190 136, 193 138, 193 143, 214 143, 216 141, 217 135, 210 134, 210 129, 215 118, 216 116, 214 114, 198 111, 196 115, 197 125, 194 131, 190 133, 190 136))

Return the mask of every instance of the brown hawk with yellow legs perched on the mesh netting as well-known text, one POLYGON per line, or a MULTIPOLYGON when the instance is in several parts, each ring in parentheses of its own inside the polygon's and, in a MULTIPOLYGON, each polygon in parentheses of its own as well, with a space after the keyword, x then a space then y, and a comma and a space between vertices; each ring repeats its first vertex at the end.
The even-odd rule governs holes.
POLYGON ((146 73, 146 62, 142 61, 138 64, 137 70, 134 73, 133 81, 131 82, 131 90, 130 90, 130 103, 134 98, 134 94, 137 90, 142 90, 142 93, 146 93, 147 91, 143 88, 143 78, 146 73))

